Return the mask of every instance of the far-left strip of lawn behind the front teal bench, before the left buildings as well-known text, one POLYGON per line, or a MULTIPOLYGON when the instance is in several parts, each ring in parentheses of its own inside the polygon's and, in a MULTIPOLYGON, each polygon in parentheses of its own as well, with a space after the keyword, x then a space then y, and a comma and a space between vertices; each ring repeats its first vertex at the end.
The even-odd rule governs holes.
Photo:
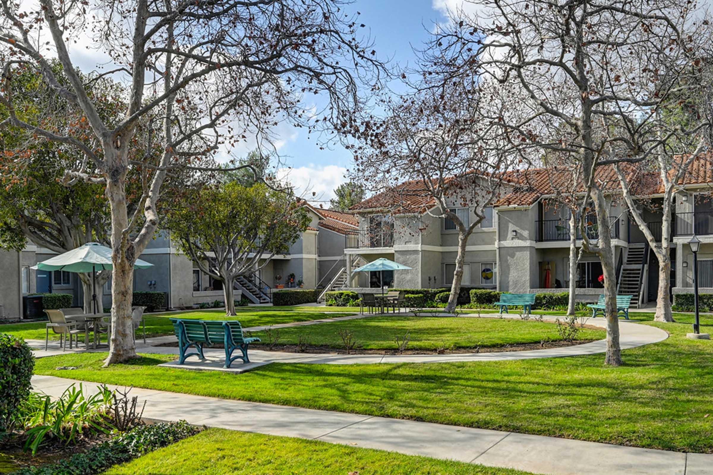
MULTIPOLYGON (((173 335, 173 324, 170 322, 169 318, 239 320, 242 326, 253 327, 352 315, 352 313, 344 312, 319 312, 314 311, 309 307, 288 307, 287 309, 282 310, 272 310, 272 307, 265 308, 270 310, 254 310, 255 307, 251 307, 246 310, 239 310, 237 312, 237 316, 235 317, 226 317, 225 310, 190 310, 187 312, 146 314, 144 317, 146 323, 146 338, 160 335, 173 335)), ((24 338, 25 340, 44 340, 45 331, 45 322, 0 325, 1 333, 10 333, 11 335, 24 338)), ((51 339, 59 340, 59 335, 52 333, 51 330, 49 335, 51 339)), ((141 328, 137 330, 136 335, 137 337, 141 337, 143 335, 141 328)), ((106 341, 106 335, 102 335, 102 338, 106 341)))

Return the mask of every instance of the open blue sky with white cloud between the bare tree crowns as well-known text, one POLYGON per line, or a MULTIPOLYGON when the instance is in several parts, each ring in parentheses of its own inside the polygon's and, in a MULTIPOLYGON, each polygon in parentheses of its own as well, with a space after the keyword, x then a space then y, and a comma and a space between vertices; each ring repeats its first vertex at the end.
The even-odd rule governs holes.
MULTIPOLYGON (((445 21, 446 6, 452 8, 455 3, 449 0, 356 0, 347 9, 361 12, 361 22, 366 24, 380 58, 392 58, 406 66, 414 61, 412 46, 421 48, 434 22, 445 21)), ((283 173, 299 189, 316 192, 317 202, 327 202, 334 187, 345 181, 344 173, 352 165, 351 153, 338 144, 333 145, 332 150, 319 150, 304 129, 287 131, 282 140, 279 153, 292 167, 283 173)))

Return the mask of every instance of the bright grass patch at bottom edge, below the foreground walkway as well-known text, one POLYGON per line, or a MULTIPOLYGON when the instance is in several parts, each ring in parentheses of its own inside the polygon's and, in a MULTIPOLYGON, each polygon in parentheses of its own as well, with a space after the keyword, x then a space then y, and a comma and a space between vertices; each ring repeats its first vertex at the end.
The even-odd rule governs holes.
POLYGON ((512 469, 226 429, 207 429, 104 473, 527 475, 512 469))

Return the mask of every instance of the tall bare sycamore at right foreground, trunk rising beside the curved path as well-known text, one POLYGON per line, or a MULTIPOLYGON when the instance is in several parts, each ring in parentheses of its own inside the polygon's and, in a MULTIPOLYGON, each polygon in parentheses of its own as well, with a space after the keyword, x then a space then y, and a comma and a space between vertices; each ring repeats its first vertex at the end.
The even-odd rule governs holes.
POLYGON ((695 4, 676 0, 473 0, 466 8, 434 39, 448 57, 443 74, 520 89, 529 118, 502 122, 528 136, 522 147, 578 163, 583 203, 592 199, 599 231, 596 241, 584 233, 583 246, 603 269, 605 363, 620 365, 614 249, 597 168, 642 162, 670 140, 647 125, 673 92, 663 79, 690 74, 709 56, 708 21, 695 4))

